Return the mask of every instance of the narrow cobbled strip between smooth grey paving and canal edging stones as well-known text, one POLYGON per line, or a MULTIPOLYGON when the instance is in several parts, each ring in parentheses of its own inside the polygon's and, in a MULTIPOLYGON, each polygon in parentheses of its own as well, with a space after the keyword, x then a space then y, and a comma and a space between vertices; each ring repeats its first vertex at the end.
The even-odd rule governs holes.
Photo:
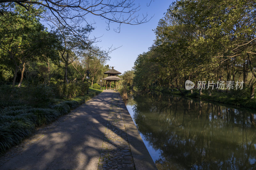
POLYGON ((115 93, 113 93, 98 169, 135 169, 124 118, 115 93))

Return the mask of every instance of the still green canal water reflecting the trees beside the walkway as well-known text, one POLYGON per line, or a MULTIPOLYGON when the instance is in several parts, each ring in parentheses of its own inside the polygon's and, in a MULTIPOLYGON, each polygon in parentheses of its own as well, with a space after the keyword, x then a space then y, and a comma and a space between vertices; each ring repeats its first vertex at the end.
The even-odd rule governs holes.
POLYGON ((145 142, 161 151, 159 170, 256 168, 255 111, 176 96, 137 96, 127 106, 145 142))

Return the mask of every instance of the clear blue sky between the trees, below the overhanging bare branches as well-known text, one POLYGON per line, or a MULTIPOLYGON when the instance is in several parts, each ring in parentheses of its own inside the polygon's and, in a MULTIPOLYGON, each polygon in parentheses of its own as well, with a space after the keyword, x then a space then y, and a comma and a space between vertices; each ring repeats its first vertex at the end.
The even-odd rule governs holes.
POLYGON ((155 0, 149 4, 150 0, 135 0, 140 3, 140 14, 148 13, 148 16, 154 16, 149 22, 140 25, 122 24, 120 33, 113 31, 116 28, 115 24, 110 25, 110 30, 106 30, 107 24, 104 20, 94 17, 96 29, 92 32, 95 37, 100 37, 101 42, 97 46, 102 49, 108 47, 120 47, 114 50, 109 56, 111 59, 107 62, 109 66, 114 66, 115 70, 124 72, 131 70, 134 62, 139 54, 148 51, 148 48, 153 44, 155 34, 152 29, 155 29, 160 18, 164 17, 164 12, 167 11, 173 0, 155 0))

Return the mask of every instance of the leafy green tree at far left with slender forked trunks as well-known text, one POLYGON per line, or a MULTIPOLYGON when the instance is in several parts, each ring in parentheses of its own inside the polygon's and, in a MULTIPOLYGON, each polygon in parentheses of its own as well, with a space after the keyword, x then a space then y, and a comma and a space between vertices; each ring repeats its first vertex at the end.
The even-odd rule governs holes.
MULTIPOLYGON (((34 10, 38 13, 42 12, 34 10)), ((23 77, 27 61, 43 60, 43 55, 56 60, 55 49, 58 43, 56 37, 45 31, 38 17, 20 7, 14 12, 6 12, 0 16, 0 41, 1 55, 10 58, 14 63, 12 87, 15 85, 20 67, 23 68, 23 77)))

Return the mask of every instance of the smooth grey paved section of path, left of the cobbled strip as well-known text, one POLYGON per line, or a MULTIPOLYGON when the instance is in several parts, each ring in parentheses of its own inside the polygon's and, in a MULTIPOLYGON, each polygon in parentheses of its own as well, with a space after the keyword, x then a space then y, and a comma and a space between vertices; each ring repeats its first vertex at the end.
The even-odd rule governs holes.
POLYGON ((97 170, 113 92, 102 92, 0 156, 0 169, 97 170))

